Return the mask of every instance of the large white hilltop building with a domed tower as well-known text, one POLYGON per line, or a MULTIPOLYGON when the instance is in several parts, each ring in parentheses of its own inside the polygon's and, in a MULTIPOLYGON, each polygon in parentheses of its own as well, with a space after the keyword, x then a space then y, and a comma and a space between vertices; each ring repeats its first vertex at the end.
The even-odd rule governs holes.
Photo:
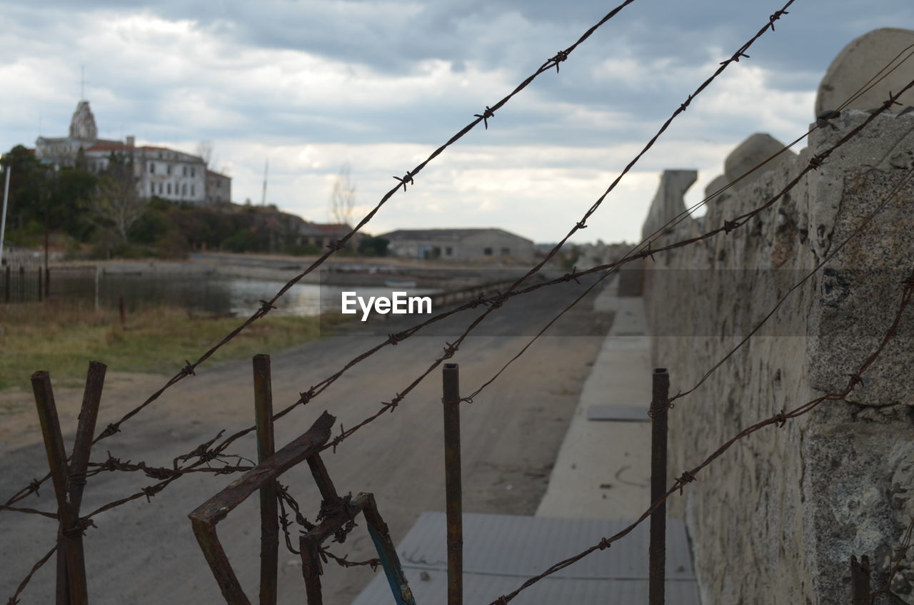
POLYGON ((197 155, 166 147, 137 147, 133 136, 124 142, 98 138, 89 101, 77 104, 69 123, 69 136, 39 136, 35 150, 42 162, 60 166, 83 162, 86 169, 95 173, 108 167, 112 154, 120 154, 133 160, 133 175, 141 196, 199 205, 231 201, 231 178, 207 170, 197 155))

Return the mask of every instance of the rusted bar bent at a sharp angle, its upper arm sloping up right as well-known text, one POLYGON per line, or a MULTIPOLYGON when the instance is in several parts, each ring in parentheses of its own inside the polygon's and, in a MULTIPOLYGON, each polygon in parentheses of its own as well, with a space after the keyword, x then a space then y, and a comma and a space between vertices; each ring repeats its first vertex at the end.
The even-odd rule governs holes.
POLYGON ((212 569, 228 605, 250 605, 250 600, 241 589, 238 577, 219 543, 216 524, 265 483, 275 481, 283 472, 320 451, 330 439, 330 429, 334 421, 335 417, 324 411, 301 437, 244 473, 240 479, 229 483, 225 489, 197 506, 188 515, 200 549, 207 558, 209 568, 212 569))

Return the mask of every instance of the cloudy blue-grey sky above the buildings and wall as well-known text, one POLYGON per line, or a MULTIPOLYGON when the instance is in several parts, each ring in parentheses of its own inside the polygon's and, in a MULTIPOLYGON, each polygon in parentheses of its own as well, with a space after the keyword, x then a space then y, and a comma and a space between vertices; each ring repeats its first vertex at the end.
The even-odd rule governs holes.
MULTIPOLYGON (((232 196, 329 218, 341 165, 359 218, 439 144, 620 0, 0 0, 0 151, 67 133, 85 97, 101 137, 214 146, 232 196)), ((685 96, 783 0, 637 0, 489 122, 434 160, 366 230, 567 233, 685 96)), ((700 192, 750 133, 787 141, 813 118, 838 51, 912 27, 910 0, 797 0, 664 134, 578 241, 632 241, 660 171, 700 192)))

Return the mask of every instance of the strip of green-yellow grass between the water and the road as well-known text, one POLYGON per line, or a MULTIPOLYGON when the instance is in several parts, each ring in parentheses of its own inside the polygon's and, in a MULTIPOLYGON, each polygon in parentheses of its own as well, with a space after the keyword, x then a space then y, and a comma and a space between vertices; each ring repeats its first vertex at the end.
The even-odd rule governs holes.
MULTIPOLYGON (((48 370, 55 385, 79 386, 90 360, 107 364, 109 372, 171 376, 186 359, 197 360, 243 320, 152 307, 127 313, 121 326, 116 309, 95 311, 53 301, 0 306, 0 390, 30 390, 29 377, 39 369, 48 370)), ((271 353, 319 338, 320 333, 316 317, 268 315, 206 363, 271 353)))

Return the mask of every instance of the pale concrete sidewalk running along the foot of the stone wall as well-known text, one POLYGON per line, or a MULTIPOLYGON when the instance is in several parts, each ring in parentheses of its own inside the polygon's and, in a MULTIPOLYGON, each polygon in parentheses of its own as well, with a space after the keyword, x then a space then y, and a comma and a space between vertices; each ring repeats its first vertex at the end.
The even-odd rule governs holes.
POLYGON ((618 282, 594 301, 594 310, 614 311, 615 319, 584 383, 537 516, 636 519, 650 504, 649 340, 642 298, 618 296, 618 282), (608 406, 633 407, 636 420, 588 419, 589 412, 605 418, 624 411, 608 406))

